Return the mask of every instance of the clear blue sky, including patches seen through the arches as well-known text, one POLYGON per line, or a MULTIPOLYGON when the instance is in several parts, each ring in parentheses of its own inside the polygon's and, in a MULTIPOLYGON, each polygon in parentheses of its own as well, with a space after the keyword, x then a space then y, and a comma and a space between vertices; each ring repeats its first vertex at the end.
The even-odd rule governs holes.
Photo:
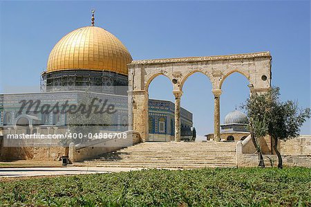
MULTIPOLYGON (((91 24, 109 30, 134 60, 270 51, 272 84, 283 100, 310 107, 310 1, 1 1, 0 92, 38 86, 53 46, 91 24)), ((173 100, 159 76, 149 98, 173 100)), ((221 122, 249 94, 247 80, 230 75, 220 98, 221 122)), ((198 135, 213 132, 211 83, 202 74, 184 86, 182 107, 194 114, 198 135)), ((310 121, 301 134, 311 134, 310 121)))

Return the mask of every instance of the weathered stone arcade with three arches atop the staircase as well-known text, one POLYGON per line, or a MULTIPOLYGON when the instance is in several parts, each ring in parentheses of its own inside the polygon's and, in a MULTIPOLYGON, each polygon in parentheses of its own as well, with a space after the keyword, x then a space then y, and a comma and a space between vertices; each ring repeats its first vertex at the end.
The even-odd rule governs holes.
POLYGON ((183 57, 160 60, 138 60, 129 64, 129 97, 133 97, 133 130, 147 141, 148 88, 158 75, 165 75, 173 84, 175 96, 175 141, 180 141, 180 98, 182 86, 190 75, 207 75, 214 94, 214 139, 220 141, 221 86, 228 75, 238 72, 249 80, 250 92, 265 92, 271 85, 269 52, 210 57, 183 57))

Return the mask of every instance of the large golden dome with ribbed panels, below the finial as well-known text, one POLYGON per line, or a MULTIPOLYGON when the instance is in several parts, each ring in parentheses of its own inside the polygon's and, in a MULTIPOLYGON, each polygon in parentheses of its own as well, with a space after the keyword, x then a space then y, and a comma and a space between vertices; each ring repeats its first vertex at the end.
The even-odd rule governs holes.
POLYGON ((50 52, 47 73, 72 69, 128 75, 132 57, 122 42, 103 28, 86 26, 65 35, 50 52))

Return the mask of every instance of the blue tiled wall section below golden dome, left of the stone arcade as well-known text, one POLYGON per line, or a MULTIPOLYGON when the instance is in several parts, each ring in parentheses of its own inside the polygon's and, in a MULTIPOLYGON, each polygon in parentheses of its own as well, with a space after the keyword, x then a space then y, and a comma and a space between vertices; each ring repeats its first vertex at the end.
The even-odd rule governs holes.
MULTIPOLYGON (((115 112, 109 118, 109 131, 126 131, 128 129, 128 106, 127 96, 115 96, 105 93, 93 93, 88 92, 89 97, 101 98, 107 100, 107 103, 115 107, 115 112)), ((41 111, 46 105, 54 107, 56 104, 62 106, 66 103, 68 107, 70 105, 78 105, 81 100, 86 96, 82 91, 57 91, 57 92, 44 92, 44 93, 19 93, 19 94, 5 94, 1 96, 3 107, 0 109, 0 125, 3 126, 5 132, 12 130, 12 132, 18 132, 22 130, 26 134, 34 133, 33 130, 40 131, 41 134, 47 134, 48 129, 53 128, 52 133, 66 132, 68 114, 57 113, 57 108, 49 113, 36 113, 35 111, 41 111), (30 110, 28 106, 21 111, 21 100, 35 101, 40 100, 40 105, 32 105, 30 110), (37 107, 37 108, 36 108, 37 107), (26 126, 26 127, 25 127, 26 126)), ((61 109, 61 107, 59 107, 61 109)))

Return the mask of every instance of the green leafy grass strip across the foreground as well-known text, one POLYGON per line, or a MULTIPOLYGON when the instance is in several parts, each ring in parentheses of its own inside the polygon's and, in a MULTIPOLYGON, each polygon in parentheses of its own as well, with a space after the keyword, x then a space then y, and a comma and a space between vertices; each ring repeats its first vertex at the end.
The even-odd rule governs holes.
POLYGON ((2 181, 0 206, 311 206, 310 168, 142 170, 2 181))

